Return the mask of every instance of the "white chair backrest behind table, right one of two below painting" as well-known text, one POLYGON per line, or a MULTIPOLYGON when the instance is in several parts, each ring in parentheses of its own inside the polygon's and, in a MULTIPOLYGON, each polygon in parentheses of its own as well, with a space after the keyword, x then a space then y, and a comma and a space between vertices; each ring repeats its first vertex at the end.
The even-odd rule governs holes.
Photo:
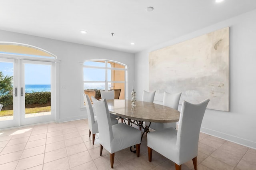
POLYGON ((163 105, 178 110, 181 93, 170 94, 164 91, 163 105))

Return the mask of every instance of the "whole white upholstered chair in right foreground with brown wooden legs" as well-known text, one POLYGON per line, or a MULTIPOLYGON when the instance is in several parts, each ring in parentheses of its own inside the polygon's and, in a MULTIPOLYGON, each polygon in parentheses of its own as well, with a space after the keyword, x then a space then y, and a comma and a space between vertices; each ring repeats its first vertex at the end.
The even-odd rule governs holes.
POLYGON ((198 138, 209 101, 206 99, 198 104, 183 101, 178 130, 165 128, 147 134, 149 162, 155 150, 174 162, 176 170, 181 170, 181 165, 191 159, 197 170, 198 138))

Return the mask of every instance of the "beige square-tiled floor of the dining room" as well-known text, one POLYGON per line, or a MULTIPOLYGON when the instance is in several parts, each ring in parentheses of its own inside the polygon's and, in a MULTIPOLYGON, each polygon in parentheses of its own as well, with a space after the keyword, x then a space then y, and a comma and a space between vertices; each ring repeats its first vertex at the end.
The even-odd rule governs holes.
MULTIPOLYGON (((92 145, 87 119, 0 131, 0 170, 108 170, 99 139, 92 145)), ((174 163, 153 151, 148 162, 144 136, 140 157, 129 148, 116 152, 116 170, 174 170, 174 163)), ((192 160, 182 170, 192 170, 192 160)), ((256 170, 256 150, 200 133, 198 170, 256 170)))

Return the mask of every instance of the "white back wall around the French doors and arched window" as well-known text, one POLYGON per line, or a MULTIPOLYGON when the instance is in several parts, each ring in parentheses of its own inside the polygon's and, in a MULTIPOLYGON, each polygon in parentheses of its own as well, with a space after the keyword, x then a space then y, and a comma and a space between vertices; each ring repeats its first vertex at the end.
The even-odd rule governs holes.
MULTIPOLYGON (((59 110, 57 121, 71 121, 87 118, 86 109, 81 109, 80 97, 80 62, 88 59, 109 59, 128 65, 128 81, 134 79, 134 54, 114 51, 88 45, 68 43, 48 38, 40 38, 14 32, 0 30, 1 42, 18 42, 34 45, 45 49, 57 56, 60 60, 59 74, 57 75, 57 96, 59 110), (60 87, 65 86, 66 89, 60 87)), ((132 85, 128 87, 128 98, 130 99, 132 85)))

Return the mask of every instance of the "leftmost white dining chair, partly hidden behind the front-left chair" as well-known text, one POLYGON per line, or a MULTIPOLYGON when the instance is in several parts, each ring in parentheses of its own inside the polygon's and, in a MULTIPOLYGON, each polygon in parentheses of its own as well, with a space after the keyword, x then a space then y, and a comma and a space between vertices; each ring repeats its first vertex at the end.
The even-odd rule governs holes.
MULTIPOLYGON (((84 95, 84 102, 86 104, 86 111, 88 115, 89 137, 91 136, 91 133, 92 133, 92 144, 94 144, 95 134, 99 132, 98 121, 97 121, 97 117, 94 116, 90 97, 88 95, 85 95, 84 93, 83 95, 84 95)), ((112 125, 115 125, 118 123, 118 120, 115 119, 114 117, 110 117, 110 119, 111 119, 110 121, 112 125)))

